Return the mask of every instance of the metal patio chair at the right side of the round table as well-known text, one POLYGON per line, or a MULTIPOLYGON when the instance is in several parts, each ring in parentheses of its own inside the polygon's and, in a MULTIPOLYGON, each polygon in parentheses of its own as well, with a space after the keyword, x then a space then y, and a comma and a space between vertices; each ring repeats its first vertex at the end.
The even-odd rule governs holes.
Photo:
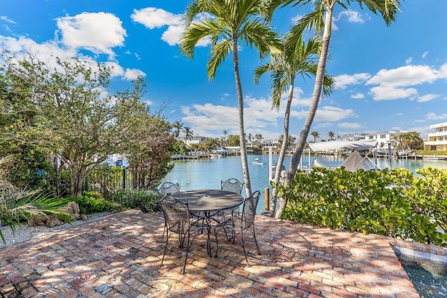
POLYGON ((251 230, 251 232, 253 232, 256 249, 258 250, 258 254, 261 255, 261 251, 259 251, 258 241, 256 241, 256 232, 254 228, 254 217, 256 215, 256 207, 258 206, 260 196, 260 191, 255 191, 254 193, 252 193, 249 198, 244 199, 244 203, 242 204, 242 212, 233 211, 232 216, 226 216, 224 221, 218 223, 214 227, 214 236, 216 237, 216 257, 217 251, 219 250, 217 241, 217 234, 219 229, 222 229, 225 232, 226 237, 229 241, 233 241, 234 243, 236 238, 238 239, 238 241, 240 241, 242 249, 244 250, 247 265, 249 264, 249 260, 247 258, 247 251, 245 250, 245 242, 247 232, 251 230), (228 234, 230 236, 228 236, 228 234))

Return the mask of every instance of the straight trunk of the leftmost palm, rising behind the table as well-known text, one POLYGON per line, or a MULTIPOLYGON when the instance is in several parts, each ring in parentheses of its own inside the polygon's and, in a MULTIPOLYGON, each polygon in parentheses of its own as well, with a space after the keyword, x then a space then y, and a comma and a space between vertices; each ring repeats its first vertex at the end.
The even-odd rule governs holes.
POLYGON ((242 172, 244 174, 245 193, 247 198, 251 195, 251 184, 249 174, 249 164, 247 161, 247 144, 245 143, 244 133, 244 98, 242 96, 242 85, 239 75, 239 55, 237 54, 237 39, 233 40, 233 66, 235 71, 235 82, 237 92, 237 110, 239 112, 239 143, 240 158, 242 161, 242 172))

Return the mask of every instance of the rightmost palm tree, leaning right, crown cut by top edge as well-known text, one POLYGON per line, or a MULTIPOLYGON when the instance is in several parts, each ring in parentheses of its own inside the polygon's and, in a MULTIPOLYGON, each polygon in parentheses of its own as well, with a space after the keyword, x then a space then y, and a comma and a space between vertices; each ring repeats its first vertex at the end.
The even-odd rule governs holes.
MULTIPOLYGON (((318 59, 318 68, 315 76, 314 93, 312 95, 312 102, 309 106, 305 124, 300 133, 300 137, 293 151, 291 164, 288 167, 288 174, 285 185, 291 184, 295 179, 295 173, 300 163, 302 152, 306 146, 307 136, 309 135, 312 122, 320 102, 321 90, 323 89, 323 78, 326 68, 326 60, 328 59, 330 36, 332 33, 332 13, 335 5, 339 4, 342 8, 348 10, 351 3, 360 4, 360 8, 366 7, 374 14, 380 14, 386 25, 390 25, 395 21, 395 17, 400 10, 400 0, 270 0, 269 1, 269 15, 272 16, 274 10, 279 6, 287 6, 291 3, 293 5, 302 5, 311 3, 312 12, 298 20, 291 28, 291 35, 294 36, 296 43, 300 42, 305 31, 314 29, 315 35, 321 37, 321 54, 318 59)), ((293 45, 293 38, 291 45, 293 45)), ((287 201, 281 200, 276 217, 279 217, 281 212, 286 208, 287 201), (278 215, 279 214, 279 215, 278 215)))

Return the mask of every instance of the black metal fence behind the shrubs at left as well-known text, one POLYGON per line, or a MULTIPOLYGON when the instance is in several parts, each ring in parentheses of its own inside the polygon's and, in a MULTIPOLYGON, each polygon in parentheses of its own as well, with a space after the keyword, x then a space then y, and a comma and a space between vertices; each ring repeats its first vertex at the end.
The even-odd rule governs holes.
MULTIPOLYGON (((71 193, 70 170, 47 174, 47 191, 65 196, 71 193)), ((98 191, 104 198, 112 198, 122 190, 147 190, 152 188, 149 170, 98 169, 91 172, 82 183, 82 191, 98 191)))

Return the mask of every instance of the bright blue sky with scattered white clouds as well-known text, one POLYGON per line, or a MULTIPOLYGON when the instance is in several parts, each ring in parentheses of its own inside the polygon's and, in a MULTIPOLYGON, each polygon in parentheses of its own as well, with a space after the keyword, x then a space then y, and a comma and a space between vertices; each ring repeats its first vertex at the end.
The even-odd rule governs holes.
MULTIPOLYGON (((380 16, 353 5, 338 7, 332 21, 329 75, 337 87, 318 106, 312 131, 337 135, 417 131, 447 121, 446 0, 401 1, 397 21, 386 27, 380 16)), ((113 66, 112 87, 122 89, 145 77, 147 101, 169 121, 181 121, 195 135, 238 134, 233 65, 228 59, 207 79, 210 47, 196 48, 194 59, 179 52, 182 13, 189 1, 0 0, 0 47, 47 57, 80 57, 113 66)), ((284 8, 273 26, 286 33, 305 12, 284 8)), ((271 109, 269 76, 254 84, 258 54, 240 48, 245 131, 264 139, 283 131, 284 105, 271 109)), ((307 115, 314 81, 296 81, 291 135, 298 136, 307 115)), ((285 97, 284 97, 285 99, 285 97)), ((311 140, 309 138, 309 140, 311 140)))

